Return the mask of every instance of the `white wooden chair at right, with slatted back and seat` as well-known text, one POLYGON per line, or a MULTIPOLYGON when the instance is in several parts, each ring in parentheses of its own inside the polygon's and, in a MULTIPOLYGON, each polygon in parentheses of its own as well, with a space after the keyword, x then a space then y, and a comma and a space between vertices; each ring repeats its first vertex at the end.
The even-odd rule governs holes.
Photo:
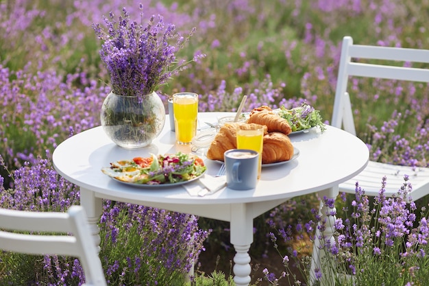
MULTIPOLYGON (((359 59, 429 63, 429 50, 354 45, 353 39, 350 36, 343 38, 331 124, 332 126, 343 128, 354 135, 356 135, 356 129, 350 96, 347 93, 347 82, 350 75, 365 78, 429 82, 429 69, 356 62, 359 59)), ((365 190, 365 194, 378 195, 382 177, 387 176, 388 186, 385 195, 391 197, 397 193, 398 189, 404 183, 405 174, 410 177, 409 182, 413 186, 413 191, 410 193, 412 200, 418 200, 424 195, 429 194, 429 168, 404 167, 373 161, 370 161, 365 170, 358 176, 340 184, 340 192, 354 193, 357 181, 360 187, 365 190)))

